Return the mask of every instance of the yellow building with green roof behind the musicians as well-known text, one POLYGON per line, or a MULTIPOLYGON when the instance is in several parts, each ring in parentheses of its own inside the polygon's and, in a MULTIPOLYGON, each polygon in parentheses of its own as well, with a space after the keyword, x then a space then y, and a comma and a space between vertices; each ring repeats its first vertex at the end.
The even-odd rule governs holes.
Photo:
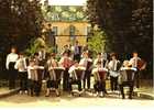
POLYGON ((84 6, 51 6, 47 10, 44 12, 45 24, 51 24, 58 50, 74 45, 76 41, 81 46, 86 45, 90 24, 84 6))

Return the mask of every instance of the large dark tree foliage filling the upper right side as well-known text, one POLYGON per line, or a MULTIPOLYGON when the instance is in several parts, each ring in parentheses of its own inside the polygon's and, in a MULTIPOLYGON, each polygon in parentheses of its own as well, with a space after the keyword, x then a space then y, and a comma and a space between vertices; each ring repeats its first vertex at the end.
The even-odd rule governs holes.
MULTIPOLYGON (((111 51, 138 51, 152 64, 152 0, 88 0, 87 14, 92 25, 106 32, 111 51)), ((152 65, 148 67, 152 70, 152 65)))

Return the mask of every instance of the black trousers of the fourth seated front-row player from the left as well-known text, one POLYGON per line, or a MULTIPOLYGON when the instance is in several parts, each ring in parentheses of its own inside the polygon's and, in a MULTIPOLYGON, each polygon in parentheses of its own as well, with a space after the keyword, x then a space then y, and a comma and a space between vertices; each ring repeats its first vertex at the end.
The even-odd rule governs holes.
POLYGON ((96 81, 96 84, 94 85, 94 88, 98 92, 100 91, 106 92, 106 81, 96 81))

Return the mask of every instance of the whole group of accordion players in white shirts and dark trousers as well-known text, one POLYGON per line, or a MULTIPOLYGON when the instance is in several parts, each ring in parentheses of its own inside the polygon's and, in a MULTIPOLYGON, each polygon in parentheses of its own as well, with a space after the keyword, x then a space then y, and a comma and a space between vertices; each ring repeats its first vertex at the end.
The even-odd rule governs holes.
MULTIPOLYGON (((15 51, 12 51, 12 53, 15 54, 15 51)), ((55 56, 54 53, 51 53, 47 57, 35 53, 33 57, 28 58, 22 53, 19 54, 14 63, 14 69, 18 69, 21 80, 20 94, 40 96, 41 91, 45 89, 45 96, 48 97, 53 89, 56 96, 59 97, 62 95, 59 89, 62 84, 63 91, 69 95, 73 95, 73 85, 77 85, 79 96, 89 90, 96 96, 105 97, 108 95, 106 88, 106 80, 108 79, 110 80, 111 91, 120 90, 123 99, 123 87, 129 86, 129 98, 131 99, 134 85, 139 87, 139 72, 145 68, 145 63, 142 63, 136 52, 133 53, 130 61, 123 63, 118 59, 116 53, 110 55, 110 59, 107 59, 102 53, 98 53, 97 57, 92 59, 87 51, 73 58, 68 51, 62 54, 59 61, 56 61, 55 56), (95 82, 91 82, 91 77, 94 77, 95 82), (43 88, 43 84, 46 87, 43 88)), ((13 64, 11 64, 13 62, 9 62, 9 59, 11 61, 11 55, 8 55, 7 66, 10 73, 14 73, 12 69, 13 64)), ((13 80, 10 80, 10 87, 12 87, 11 82, 13 80)))

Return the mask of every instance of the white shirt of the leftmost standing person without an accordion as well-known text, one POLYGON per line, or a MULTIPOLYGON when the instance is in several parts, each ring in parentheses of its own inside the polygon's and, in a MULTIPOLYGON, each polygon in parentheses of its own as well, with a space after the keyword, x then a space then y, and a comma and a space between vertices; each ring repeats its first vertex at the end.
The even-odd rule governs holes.
POLYGON ((9 64, 10 63, 15 63, 18 61, 18 58, 19 58, 18 54, 14 54, 14 53, 8 54, 7 62, 6 62, 7 69, 9 69, 9 64))

